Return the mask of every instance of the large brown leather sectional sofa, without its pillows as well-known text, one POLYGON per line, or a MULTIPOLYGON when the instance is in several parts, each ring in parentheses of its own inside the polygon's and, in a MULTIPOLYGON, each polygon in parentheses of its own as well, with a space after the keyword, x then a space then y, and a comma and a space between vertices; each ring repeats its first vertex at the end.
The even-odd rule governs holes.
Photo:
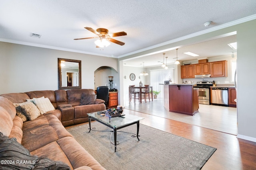
MULTIPOLYGON (((70 169, 103 168, 77 141, 64 126, 88 121, 87 113, 106 109, 104 100, 96 99, 95 104, 80 105, 82 93, 94 94, 92 89, 43 90, 25 93, 0 95, 0 132, 16 138, 20 147, 31 155, 61 161, 70 169), (34 120, 23 122, 16 115, 13 103, 26 102, 27 99, 49 98, 55 110, 40 115, 34 120)), ((0 137, 1 141, 4 139, 0 137)), ((1 155, 1 143, 0 143, 1 155)), ((38 160, 40 160, 38 158, 38 160)))

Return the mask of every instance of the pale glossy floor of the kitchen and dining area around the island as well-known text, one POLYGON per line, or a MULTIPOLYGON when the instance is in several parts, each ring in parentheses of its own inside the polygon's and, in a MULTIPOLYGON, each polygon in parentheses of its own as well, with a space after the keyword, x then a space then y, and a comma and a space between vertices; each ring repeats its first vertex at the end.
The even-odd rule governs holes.
POLYGON ((145 103, 125 101, 125 108, 130 110, 164 117, 192 125, 213 129, 225 133, 237 135, 237 112, 236 107, 224 107, 199 104, 199 113, 194 116, 169 112, 164 108, 163 99, 154 99, 145 103))

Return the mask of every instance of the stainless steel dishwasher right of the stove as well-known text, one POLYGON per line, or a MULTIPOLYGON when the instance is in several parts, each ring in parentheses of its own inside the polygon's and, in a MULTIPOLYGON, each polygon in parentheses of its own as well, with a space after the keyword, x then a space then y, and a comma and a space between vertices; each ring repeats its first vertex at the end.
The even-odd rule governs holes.
POLYGON ((228 106, 228 88, 213 87, 211 95, 212 104, 228 106))

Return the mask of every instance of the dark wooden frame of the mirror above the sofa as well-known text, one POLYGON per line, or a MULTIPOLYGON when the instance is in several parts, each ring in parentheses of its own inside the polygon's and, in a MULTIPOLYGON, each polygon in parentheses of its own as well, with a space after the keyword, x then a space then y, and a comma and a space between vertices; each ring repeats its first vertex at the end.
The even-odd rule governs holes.
POLYGON ((61 59, 58 58, 58 89, 59 90, 66 90, 66 89, 81 89, 82 88, 82 76, 81 76, 81 61, 80 60, 72 60, 72 59, 61 59), (78 63, 78 75, 79 75, 79 86, 68 86, 62 87, 62 76, 61 76, 61 61, 68 61, 78 63))

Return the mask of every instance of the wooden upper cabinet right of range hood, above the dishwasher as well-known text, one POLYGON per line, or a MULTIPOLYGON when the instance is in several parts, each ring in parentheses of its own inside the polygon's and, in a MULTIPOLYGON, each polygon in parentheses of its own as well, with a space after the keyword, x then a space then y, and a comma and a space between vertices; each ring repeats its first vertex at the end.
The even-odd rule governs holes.
POLYGON ((216 61, 210 63, 211 77, 226 77, 227 76, 227 61, 216 61))

